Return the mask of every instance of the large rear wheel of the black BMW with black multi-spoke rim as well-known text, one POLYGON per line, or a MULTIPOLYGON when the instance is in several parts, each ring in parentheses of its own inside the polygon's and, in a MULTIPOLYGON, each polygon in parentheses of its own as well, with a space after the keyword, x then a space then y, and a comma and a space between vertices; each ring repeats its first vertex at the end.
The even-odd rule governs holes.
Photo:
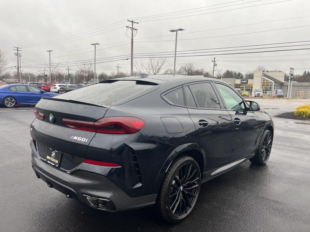
POLYGON ((176 159, 166 173, 156 201, 163 219, 177 223, 187 218, 196 204, 200 184, 197 161, 190 156, 176 159))

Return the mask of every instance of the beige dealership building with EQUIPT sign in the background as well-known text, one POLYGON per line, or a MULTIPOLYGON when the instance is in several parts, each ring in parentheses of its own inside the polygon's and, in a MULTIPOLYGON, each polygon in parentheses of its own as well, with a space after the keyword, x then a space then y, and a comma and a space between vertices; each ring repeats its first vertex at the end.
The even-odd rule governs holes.
MULTIPOLYGON (((254 97, 255 89, 262 89, 264 96, 272 95, 273 89, 283 89, 285 97, 287 96, 288 82, 284 81, 284 72, 263 72, 254 71, 253 79, 235 79, 223 78, 222 80, 230 84, 232 88, 248 91, 250 96, 254 97)), ((309 82, 293 82, 291 97, 309 98, 309 82)))

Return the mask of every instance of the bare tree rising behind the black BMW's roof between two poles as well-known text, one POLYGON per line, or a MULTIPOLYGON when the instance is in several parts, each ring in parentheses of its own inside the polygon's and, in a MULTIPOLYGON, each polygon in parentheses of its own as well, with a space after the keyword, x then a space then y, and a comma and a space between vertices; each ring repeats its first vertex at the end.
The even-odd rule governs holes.
POLYGON ((162 57, 150 57, 147 64, 143 64, 142 59, 138 61, 135 60, 134 65, 139 74, 145 73, 148 75, 166 74, 171 67, 167 59, 162 57))

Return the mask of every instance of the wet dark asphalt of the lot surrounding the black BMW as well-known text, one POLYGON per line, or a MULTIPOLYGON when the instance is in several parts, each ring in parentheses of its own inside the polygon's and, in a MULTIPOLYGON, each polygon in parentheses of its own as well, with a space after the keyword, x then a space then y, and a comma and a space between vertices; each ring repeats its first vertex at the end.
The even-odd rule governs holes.
MULTIPOLYGON (((305 100, 257 100, 274 116, 305 100)), ((308 103, 310 101, 307 101, 308 103)), ((0 108, 0 231, 310 231, 310 122, 273 117, 268 164, 245 162, 205 183, 192 215, 161 221, 153 207, 106 213, 37 179, 30 163, 33 108, 0 108), (23 109, 18 109, 23 108, 23 109)))

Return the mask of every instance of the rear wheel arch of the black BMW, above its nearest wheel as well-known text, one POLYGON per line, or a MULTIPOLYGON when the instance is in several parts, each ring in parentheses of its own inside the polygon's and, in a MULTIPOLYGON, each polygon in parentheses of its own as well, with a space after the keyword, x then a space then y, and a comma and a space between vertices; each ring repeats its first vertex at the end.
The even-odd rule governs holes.
POLYGON ((162 165, 162 168, 157 176, 156 183, 153 188, 154 194, 158 193, 162 185, 162 181, 166 175, 166 172, 168 171, 172 162, 175 161, 177 158, 185 155, 191 156, 197 161, 202 177, 202 174, 205 172, 206 169, 206 154, 201 145, 196 143, 180 145, 169 154, 164 165, 162 165))

